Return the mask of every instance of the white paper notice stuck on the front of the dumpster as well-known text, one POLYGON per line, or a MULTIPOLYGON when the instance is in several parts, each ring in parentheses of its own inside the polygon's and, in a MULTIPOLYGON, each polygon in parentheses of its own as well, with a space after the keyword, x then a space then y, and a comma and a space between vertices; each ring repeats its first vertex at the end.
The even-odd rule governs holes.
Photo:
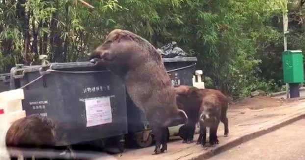
POLYGON ((112 122, 110 97, 86 100, 85 105, 87 127, 112 122))

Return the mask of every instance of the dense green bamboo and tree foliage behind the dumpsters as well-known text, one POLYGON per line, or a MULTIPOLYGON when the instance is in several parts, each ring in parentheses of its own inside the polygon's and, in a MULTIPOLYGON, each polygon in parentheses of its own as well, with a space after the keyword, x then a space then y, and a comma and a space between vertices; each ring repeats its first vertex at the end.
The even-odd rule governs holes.
POLYGON ((85 60, 109 31, 121 28, 156 47, 178 42, 198 57, 198 68, 213 80, 207 84, 234 96, 280 83, 280 67, 274 70, 269 58, 280 63, 282 0, 86 2, 95 8, 79 0, 0 0, 0 70, 38 63, 41 54, 50 62, 85 60))

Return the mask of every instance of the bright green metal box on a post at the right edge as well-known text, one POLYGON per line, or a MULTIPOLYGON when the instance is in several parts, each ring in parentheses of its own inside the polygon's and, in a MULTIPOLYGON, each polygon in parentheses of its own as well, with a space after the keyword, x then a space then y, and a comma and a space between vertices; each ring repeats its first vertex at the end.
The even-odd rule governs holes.
POLYGON ((283 52, 284 83, 303 83, 303 53, 300 50, 287 50, 283 52))

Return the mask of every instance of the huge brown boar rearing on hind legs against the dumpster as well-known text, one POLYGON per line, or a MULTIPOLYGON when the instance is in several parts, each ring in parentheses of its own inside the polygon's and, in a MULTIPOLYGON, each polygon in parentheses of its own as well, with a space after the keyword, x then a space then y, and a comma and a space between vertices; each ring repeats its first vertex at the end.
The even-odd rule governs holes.
POLYGON ((146 114, 155 135, 155 154, 167 150, 167 127, 186 123, 187 116, 177 107, 174 87, 152 44, 130 31, 115 29, 89 58, 121 77, 134 104, 146 114))

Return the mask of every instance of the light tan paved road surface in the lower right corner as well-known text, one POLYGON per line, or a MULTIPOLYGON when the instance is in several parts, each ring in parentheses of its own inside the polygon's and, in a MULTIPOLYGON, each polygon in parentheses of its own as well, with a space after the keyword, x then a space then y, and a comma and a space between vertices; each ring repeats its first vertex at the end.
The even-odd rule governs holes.
POLYGON ((305 119, 208 160, 305 160, 305 119))

